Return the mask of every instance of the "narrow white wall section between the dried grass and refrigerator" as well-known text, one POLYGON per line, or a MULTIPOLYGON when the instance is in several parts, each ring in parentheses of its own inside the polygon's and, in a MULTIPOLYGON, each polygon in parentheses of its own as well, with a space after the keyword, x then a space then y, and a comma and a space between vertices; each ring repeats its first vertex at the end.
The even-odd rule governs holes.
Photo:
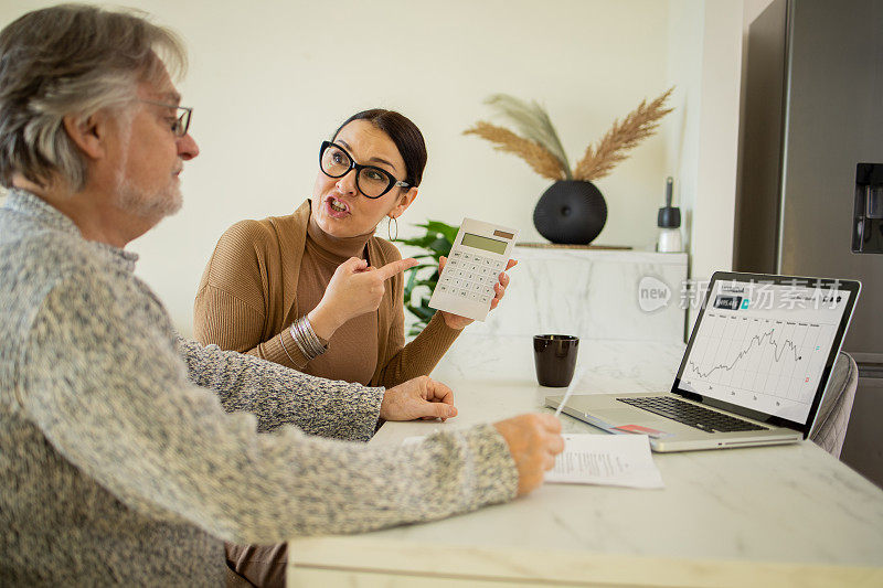
MULTIPOLYGON (((668 121, 667 153, 680 178, 690 279, 701 286, 732 269, 743 4, 672 0, 668 24, 668 75, 683 90, 668 121)), ((692 309, 700 299, 689 300, 692 309)))

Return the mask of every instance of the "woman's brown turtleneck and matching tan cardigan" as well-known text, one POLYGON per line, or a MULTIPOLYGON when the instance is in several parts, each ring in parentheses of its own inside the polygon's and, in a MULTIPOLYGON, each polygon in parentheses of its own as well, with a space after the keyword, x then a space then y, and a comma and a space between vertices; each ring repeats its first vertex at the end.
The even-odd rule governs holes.
POLYGON ((289 216, 236 223, 221 236, 202 276, 194 336, 330 379, 389 387, 429 374, 460 331, 436 313, 405 345, 401 274, 386 281, 377 311, 344 323, 323 355, 308 362, 300 353, 288 327, 316 308, 334 269, 350 257, 381 267, 402 256, 371 235, 328 235, 310 221, 309 201, 289 216))

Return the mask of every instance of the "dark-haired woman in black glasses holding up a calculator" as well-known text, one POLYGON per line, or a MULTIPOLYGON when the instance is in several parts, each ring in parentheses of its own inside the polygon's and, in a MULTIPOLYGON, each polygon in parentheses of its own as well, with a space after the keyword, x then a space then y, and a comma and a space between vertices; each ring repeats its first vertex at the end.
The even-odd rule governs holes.
MULTIPOLYGON (((294 214, 242 221, 221 237, 196 295, 195 338, 371 386, 428 375, 472 321, 436 312, 405 345, 402 271, 416 261, 373 236, 417 196, 423 135, 398 113, 364 110, 322 143, 319 161, 312 197, 294 214)), ((491 308, 508 284, 501 272, 491 308)), ((227 545, 228 565, 258 586, 284 586, 286 557, 285 544, 227 545)))

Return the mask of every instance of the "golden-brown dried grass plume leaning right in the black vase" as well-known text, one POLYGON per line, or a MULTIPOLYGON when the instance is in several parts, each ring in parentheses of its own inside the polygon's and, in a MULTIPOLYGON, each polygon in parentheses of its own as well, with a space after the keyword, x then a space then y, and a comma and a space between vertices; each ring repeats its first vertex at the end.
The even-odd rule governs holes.
POLYGON ((641 100, 621 124, 615 120, 597 147, 588 146, 585 156, 576 164, 574 179, 592 182, 608 175, 617 163, 628 158, 626 151, 653 135, 659 120, 671 113, 671 108, 662 108, 662 105, 673 90, 674 87, 669 88, 649 105, 647 100, 641 100))

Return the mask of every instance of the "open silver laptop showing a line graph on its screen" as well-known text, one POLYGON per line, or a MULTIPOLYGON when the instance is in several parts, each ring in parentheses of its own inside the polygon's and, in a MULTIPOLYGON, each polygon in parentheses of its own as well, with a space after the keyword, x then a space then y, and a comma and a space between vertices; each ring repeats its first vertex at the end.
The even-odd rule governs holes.
POLYGON ((853 280, 717 271, 671 392, 572 395, 562 411, 648 435, 660 452, 806 439, 860 290, 853 280))

